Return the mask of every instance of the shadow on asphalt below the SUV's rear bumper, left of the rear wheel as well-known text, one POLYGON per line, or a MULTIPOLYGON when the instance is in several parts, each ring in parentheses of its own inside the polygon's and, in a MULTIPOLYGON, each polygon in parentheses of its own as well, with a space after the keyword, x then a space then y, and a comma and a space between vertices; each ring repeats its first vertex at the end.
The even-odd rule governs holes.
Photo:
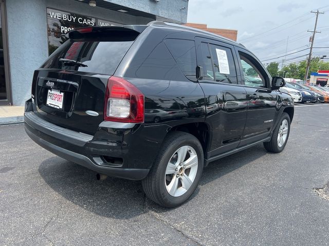
POLYGON ((44 160, 39 173, 47 185, 68 201, 104 217, 127 219, 145 212, 141 182, 108 177, 60 157, 44 160))

